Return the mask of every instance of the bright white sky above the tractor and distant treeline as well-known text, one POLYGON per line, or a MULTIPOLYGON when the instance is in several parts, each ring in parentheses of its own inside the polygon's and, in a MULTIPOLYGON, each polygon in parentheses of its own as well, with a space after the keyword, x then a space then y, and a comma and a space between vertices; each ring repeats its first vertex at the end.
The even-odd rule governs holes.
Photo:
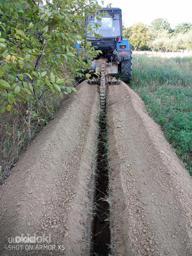
POLYGON ((192 0, 104 0, 103 7, 110 3, 122 10, 125 28, 137 22, 148 26, 156 18, 166 18, 172 29, 179 23, 192 23, 192 0))

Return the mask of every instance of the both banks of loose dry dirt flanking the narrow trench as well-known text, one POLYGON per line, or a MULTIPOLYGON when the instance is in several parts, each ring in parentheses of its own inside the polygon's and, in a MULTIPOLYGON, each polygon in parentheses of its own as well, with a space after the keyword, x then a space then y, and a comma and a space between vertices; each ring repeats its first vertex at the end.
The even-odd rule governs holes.
MULTIPOLYGON (((1 255, 89 255, 99 94, 86 82, 77 91, 0 188, 1 255)), ((125 83, 108 88, 108 113, 111 254, 192 255, 187 170, 125 83)))

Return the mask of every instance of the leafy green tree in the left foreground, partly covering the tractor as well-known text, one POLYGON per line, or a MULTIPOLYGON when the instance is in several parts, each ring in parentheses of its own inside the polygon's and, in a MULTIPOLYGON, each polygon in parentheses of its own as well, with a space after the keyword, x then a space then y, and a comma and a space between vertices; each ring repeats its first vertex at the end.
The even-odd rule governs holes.
POLYGON ((83 61, 85 56, 93 59, 98 54, 86 43, 82 21, 100 9, 91 0, 0 3, 0 109, 19 113, 29 138, 32 117, 40 106, 49 97, 76 91, 67 86, 73 80, 69 74, 79 76, 91 65, 83 61), (84 41, 79 57, 77 40, 84 41))

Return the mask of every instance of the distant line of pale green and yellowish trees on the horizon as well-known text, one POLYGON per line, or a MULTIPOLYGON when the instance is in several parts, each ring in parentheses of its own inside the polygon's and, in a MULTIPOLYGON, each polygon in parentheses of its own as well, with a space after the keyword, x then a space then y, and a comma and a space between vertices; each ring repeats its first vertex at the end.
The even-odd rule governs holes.
POLYGON ((135 51, 191 51, 192 24, 181 23, 172 29, 167 19, 157 18, 150 26, 138 22, 129 28, 123 27, 123 38, 130 40, 135 51))

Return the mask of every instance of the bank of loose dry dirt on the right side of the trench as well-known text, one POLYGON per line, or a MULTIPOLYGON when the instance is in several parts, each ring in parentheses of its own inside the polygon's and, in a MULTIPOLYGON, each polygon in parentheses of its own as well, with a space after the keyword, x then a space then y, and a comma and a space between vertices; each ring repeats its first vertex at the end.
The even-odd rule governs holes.
POLYGON ((108 89, 115 255, 192 255, 192 182, 126 84, 108 89))

